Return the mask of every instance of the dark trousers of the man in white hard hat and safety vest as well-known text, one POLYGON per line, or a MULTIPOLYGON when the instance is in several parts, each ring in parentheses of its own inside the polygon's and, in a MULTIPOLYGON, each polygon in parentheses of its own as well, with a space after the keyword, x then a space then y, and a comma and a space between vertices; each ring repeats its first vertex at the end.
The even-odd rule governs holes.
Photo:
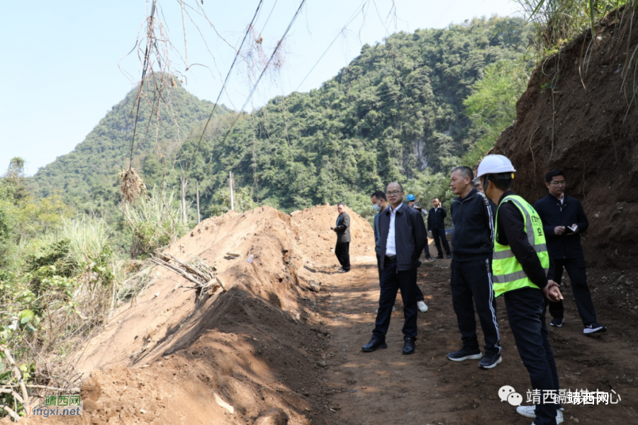
MULTIPOLYGON (((520 358, 530 373, 533 390, 559 390, 558 372, 552 347, 547 339, 545 299, 538 288, 522 288, 506 292, 505 309, 508 310, 510 328, 520 358)), ((559 404, 537 404, 536 425, 556 424, 559 404)))

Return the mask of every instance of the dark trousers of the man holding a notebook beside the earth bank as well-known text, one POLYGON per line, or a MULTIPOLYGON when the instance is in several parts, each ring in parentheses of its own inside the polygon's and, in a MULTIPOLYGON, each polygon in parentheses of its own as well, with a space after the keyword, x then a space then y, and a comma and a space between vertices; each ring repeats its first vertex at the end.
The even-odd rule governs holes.
MULTIPOLYGON (((571 280, 571 291, 573 300, 576 301, 578 314, 581 315, 583 324, 587 325, 596 321, 596 310, 593 307, 591 293, 587 286, 587 273, 585 271, 584 259, 559 259, 554 260, 554 281, 561 284, 563 278, 563 268, 567 270, 569 280, 571 280)), ((549 314, 552 317, 562 318, 564 316, 563 302, 549 302, 549 314)))

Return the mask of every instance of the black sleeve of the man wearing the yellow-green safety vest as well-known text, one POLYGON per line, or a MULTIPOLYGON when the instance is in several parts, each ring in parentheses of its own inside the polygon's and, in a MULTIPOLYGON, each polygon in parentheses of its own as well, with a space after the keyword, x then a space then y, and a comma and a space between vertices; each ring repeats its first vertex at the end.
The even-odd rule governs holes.
POLYGON ((527 241, 525 220, 520 210, 511 202, 503 203, 505 196, 515 194, 514 191, 507 191, 498 200, 496 242, 509 245, 527 277, 539 288, 544 288, 548 279, 554 280, 552 257, 549 257, 549 273, 546 275, 534 246, 527 241))

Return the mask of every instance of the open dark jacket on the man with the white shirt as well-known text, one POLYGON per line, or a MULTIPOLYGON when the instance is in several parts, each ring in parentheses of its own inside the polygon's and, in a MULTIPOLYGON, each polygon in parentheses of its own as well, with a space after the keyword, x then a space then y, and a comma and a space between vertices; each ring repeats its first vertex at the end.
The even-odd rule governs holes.
MULTIPOLYGON (((391 208, 379 212, 379 244, 381 245, 381 270, 384 269, 384 258, 388 232, 390 231, 391 208)), ((408 204, 403 204, 396 212, 394 220, 396 245, 396 269, 398 271, 414 270, 419 266, 419 256, 427 244, 427 231, 421 213, 408 204)))

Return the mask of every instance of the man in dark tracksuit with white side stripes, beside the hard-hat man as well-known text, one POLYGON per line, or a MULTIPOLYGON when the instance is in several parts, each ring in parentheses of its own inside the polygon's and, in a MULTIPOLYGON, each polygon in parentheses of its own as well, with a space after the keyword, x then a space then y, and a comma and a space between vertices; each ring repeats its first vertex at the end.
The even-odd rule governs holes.
POLYGON ((459 195, 449 207, 454 222, 450 285, 463 346, 447 357, 452 361, 481 358, 474 317, 476 305, 485 337, 485 356, 478 366, 491 369, 502 361, 491 276, 496 205, 474 188, 472 179, 474 173, 467 166, 458 166, 450 176, 450 186, 459 195))

